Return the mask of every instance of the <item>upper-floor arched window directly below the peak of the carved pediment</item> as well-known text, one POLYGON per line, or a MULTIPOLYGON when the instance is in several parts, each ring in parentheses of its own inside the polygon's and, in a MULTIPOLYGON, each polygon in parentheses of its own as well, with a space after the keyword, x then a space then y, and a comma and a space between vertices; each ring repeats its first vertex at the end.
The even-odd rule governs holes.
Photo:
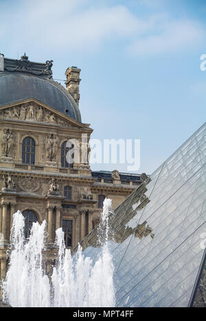
POLYGON ((35 163, 35 142, 31 137, 25 137, 22 142, 22 163, 34 165, 35 163))

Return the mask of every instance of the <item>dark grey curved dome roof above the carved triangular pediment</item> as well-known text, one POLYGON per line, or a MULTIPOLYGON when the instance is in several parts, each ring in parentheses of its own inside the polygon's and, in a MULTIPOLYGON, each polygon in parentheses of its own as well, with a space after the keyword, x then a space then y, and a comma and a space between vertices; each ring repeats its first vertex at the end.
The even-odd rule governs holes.
POLYGON ((47 78, 27 73, 0 73, 0 106, 35 98, 81 122, 80 110, 67 90, 47 78))

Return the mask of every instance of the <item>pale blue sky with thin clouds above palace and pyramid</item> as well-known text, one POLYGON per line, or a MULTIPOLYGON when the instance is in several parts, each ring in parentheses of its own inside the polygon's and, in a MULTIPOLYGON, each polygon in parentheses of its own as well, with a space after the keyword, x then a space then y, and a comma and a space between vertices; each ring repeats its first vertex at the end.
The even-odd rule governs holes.
POLYGON ((140 139, 137 173, 152 174, 206 119, 205 14, 205 0, 0 0, 0 52, 54 60, 62 84, 82 69, 92 138, 140 139))

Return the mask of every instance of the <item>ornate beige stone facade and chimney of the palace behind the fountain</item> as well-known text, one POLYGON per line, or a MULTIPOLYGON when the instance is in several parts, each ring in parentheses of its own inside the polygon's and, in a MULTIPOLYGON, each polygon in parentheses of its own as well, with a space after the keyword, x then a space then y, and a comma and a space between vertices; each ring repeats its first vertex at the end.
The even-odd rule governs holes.
MULTIPOLYGON (((77 104, 79 93, 73 80, 80 69, 67 69, 68 88, 77 104), (70 89, 69 89, 70 88, 70 89)), ((141 176, 118 171, 92 172, 88 163, 62 167, 62 144, 76 139, 81 145, 92 129, 35 98, 0 106, 0 278, 5 277, 6 255, 12 215, 16 210, 33 211, 38 222, 47 221, 47 270, 55 259, 55 231, 63 220, 72 222, 71 247, 99 223, 100 195, 117 207, 141 184, 141 176), (34 162, 23 162, 23 140, 34 141, 34 162), (65 196, 65 187, 71 192, 65 196)))

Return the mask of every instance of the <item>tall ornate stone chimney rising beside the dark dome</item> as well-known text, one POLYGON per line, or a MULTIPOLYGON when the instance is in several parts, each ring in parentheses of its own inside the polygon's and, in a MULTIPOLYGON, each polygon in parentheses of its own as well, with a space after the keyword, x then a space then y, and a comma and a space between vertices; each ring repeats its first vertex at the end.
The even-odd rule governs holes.
POLYGON ((67 77, 67 81, 65 82, 67 91, 69 91, 77 104, 79 104, 80 101, 80 71, 81 69, 77 67, 69 67, 65 72, 67 77))

